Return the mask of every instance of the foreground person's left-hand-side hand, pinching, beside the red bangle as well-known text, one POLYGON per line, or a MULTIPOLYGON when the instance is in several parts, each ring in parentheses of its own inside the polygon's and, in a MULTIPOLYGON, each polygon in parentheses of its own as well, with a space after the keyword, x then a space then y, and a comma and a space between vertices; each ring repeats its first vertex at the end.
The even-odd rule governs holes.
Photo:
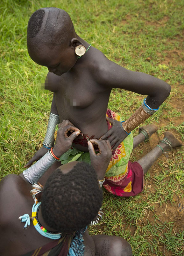
POLYGON ((62 154, 67 152, 69 148, 71 148, 73 140, 81 131, 69 120, 63 120, 61 124, 58 124, 58 128, 53 153, 55 156, 60 157, 62 154), (71 134, 68 135, 68 132, 71 132, 71 134))

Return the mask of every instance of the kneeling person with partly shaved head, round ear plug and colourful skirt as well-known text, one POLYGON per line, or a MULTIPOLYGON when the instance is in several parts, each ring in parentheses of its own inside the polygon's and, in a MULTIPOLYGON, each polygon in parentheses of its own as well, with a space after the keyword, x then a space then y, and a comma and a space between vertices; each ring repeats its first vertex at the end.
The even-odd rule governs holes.
MULTIPOLYGON (((88 140, 108 139, 113 156, 104 187, 107 182, 109 186, 117 186, 120 191, 118 195, 121 196, 141 192, 144 170, 137 162, 129 161, 133 148, 131 131, 159 109, 170 94, 170 85, 108 60, 102 52, 76 34, 70 16, 59 8, 41 8, 32 14, 28 22, 27 48, 32 60, 49 70, 45 89, 53 92, 53 101, 44 146, 25 167, 53 147, 56 124, 68 119, 79 128, 81 134, 74 140, 74 148, 61 160, 65 163, 76 159, 89 162, 89 154, 86 153, 88 140), (107 110, 112 88, 148 96, 135 113, 124 121, 113 111, 107 110), (128 183, 124 185, 125 179, 128 179, 128 183)), ((156 130, 155 127, 143 129, 140 134, 142 141, 156 130)), ((157 149, 162 152, 160 147, 157 149)), ((117 194, 110 188, 108 190, 117 194)))

